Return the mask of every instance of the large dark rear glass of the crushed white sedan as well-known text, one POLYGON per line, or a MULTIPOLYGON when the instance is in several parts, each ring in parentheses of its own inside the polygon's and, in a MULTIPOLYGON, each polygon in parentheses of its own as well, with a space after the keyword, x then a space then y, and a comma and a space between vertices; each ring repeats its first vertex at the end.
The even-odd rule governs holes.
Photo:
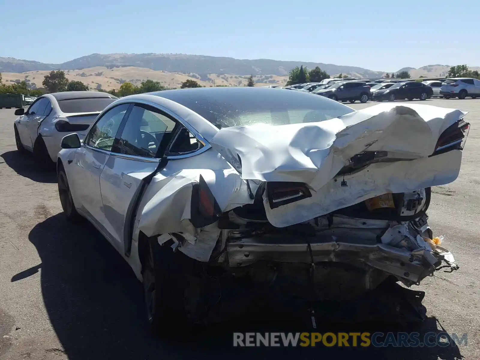
POLYGON ((206 88, 155 93, 204 117, 217 128, 317 122, 353 112, 336 101, 303 91, 267 88, 206 88))

